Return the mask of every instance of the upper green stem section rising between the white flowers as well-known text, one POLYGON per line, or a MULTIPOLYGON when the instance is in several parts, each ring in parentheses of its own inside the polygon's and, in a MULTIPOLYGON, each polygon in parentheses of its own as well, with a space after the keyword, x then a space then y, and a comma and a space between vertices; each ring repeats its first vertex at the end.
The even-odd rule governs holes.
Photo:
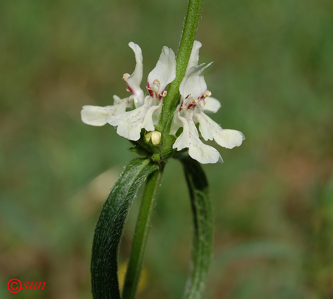
MULTIPOLYGON (((177 54, 176 78, 170 83, 166 98, 163 100, 163 109, 160 124, 164 128, 169 121, 179 100, 179 85, 185 76, 193 42, 198 28, 202 0, 189 0, 177 54)), ((168 134, 169 132, 167 132, 168 134)))

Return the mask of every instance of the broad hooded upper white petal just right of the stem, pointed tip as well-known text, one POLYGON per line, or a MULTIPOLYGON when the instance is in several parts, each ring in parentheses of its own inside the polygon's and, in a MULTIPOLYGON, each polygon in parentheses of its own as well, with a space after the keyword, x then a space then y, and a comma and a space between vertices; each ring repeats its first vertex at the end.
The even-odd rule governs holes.
POLYGON ((211 64, 212 62, 208 63, 206 66, 204 66, 204 63, 198 66, 192 66, 186 72, 179 86, 179 92, 184 99, 188 95, 198 99, 207 90, 207 84, 203 78, 203 71, 211 64))

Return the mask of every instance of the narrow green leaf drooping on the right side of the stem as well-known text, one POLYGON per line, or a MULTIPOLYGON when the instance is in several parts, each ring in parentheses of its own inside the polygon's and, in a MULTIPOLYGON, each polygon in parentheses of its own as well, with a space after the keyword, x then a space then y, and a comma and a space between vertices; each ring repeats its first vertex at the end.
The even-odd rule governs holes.
POLYGON ((213 248, 213 217, 208 183, 200 164, 190 157, 180 160, 189 189, 194 238, 191 272, 183 298, 199 299, 205 287, 213 248))

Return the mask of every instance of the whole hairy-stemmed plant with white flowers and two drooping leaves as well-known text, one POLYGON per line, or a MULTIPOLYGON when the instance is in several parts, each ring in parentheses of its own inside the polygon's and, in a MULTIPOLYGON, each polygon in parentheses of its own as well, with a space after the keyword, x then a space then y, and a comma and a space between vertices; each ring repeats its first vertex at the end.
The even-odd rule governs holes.
POLYGON ((198 65, 201 43, 194 41, 194 37, 200 10, 201 0, 189 1, 177 60, 174 52, 164 46, 155 68, 148 75, 146 93, 140 87, 142 51, 130 42, 136 67, 131 75, 123 75, 130 96, 121 99, 115 95, 113 105, 87 105, 81 111, 84 123, 93 126, 109 123, 117 127, 117 133, 133 143, 131 149, 144 156, 131 161, 120 174, 97 222, 91 262, 94 299, 121 298, 118 248, 129 207, 139 186, 146 181, 122 296, 123 299, 135 297, 152 213, 165 162, 170 157, 178 158, 183 165, 193 212, 192 267, 184 298, 200 298, 204 288, 212 251, 213 225, 208 183, 199 163, 223 160, 219 152, 204 144, 201 138, 233 148, 241 145, 244 135, 236 130, 222 129, 206 115, 206 112, 217 112, 221 105, 211 97, 203 77, 203 71, 211 63, 198 65))

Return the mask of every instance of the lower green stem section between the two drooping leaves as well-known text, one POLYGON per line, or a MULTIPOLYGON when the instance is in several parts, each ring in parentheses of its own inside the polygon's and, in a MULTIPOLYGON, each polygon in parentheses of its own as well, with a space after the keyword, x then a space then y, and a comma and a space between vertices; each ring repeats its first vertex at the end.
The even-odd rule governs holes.
POLYGON ((137 226, 135 228, 131 256, 128 263, 123 289, 123 299, 134 299, 140 280, 142 262, 155 210, 156 199, 160 191, 164 165, 147 178, 142 196, 137 226))

